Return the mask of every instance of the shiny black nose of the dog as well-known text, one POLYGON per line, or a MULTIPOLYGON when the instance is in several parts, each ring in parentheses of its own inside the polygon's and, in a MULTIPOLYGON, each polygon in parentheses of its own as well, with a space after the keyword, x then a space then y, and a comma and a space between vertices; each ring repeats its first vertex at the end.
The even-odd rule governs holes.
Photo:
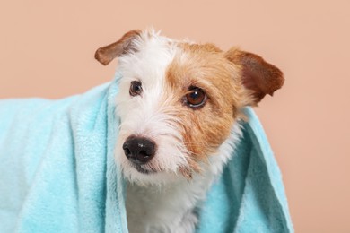
POLYGON ((141 165, 152 160, 155 144, 144 137, 131 136, 124 142, 123 150, 128 160, 141 165))

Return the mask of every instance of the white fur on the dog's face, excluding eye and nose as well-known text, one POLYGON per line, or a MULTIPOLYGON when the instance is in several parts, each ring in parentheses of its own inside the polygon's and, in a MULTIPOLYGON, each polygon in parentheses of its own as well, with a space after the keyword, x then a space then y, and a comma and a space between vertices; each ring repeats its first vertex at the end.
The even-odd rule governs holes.
POLYGON ((187 165, 186 148, 181 134, 176 129, 173 116, 166 114, 169 106, 164 104, 162 96, 166 69, 175 56, 177 47, 171 39, 157 33, 143 32, 133 41, 137 53, 119 58, 118 72, 122 74, 120 92, 117 97, 117 114, 120 117, 120 134, 117 143, 117 160, 121 163, 123 174, 138 184, 160 184, 175 179, 180 166, 187 165), (151 33, 151 35, 150 35, 151 33), (140 96, 131 97, 130 82, 142 83, 140 96), (157 145, 153 160, 143 168, 158 172, 144 175, 130 165, 124 155, 122 144, 130 135, 143 135, 153 139, 157 145))

